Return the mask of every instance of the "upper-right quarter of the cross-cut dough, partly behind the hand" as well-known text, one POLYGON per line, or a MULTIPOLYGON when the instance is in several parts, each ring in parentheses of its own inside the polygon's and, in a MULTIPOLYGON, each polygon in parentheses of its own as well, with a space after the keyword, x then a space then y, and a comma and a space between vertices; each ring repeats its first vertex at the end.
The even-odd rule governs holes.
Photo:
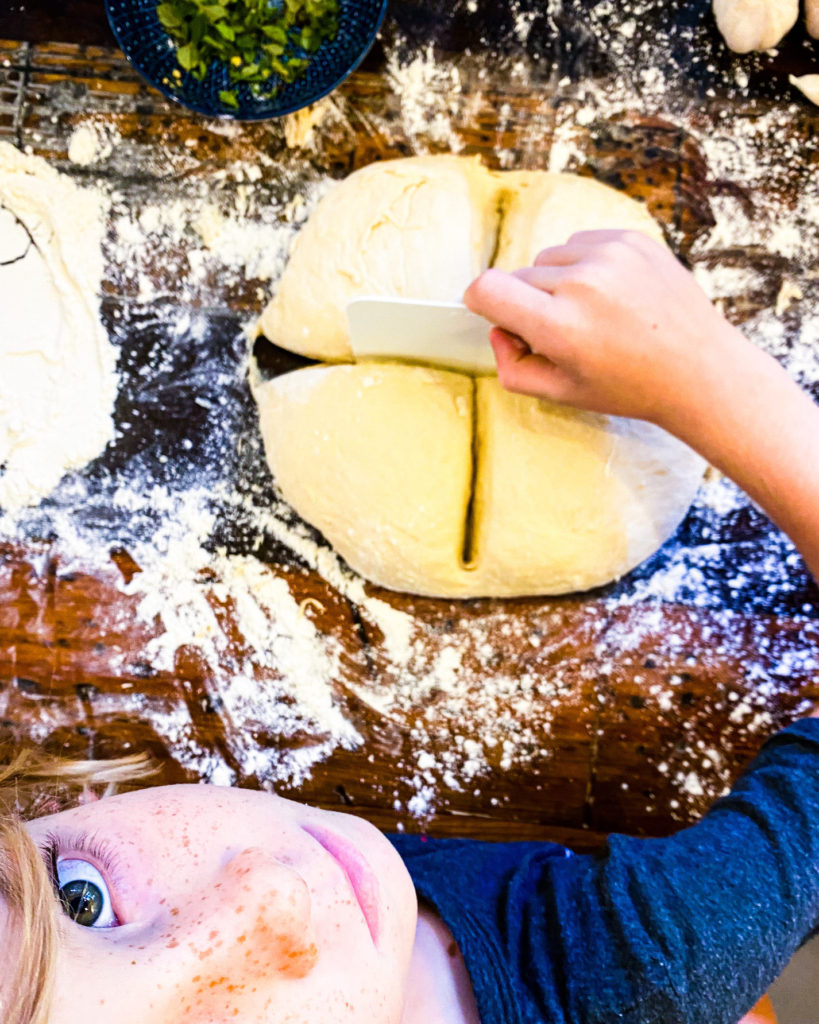
POLYGON ((642 203, 594 178, 548 171, 504 175, 503 220, 493 265, 530 266, 542 249, 561 246, 576 231, 643 231, 657 242, 662 231, 642 203))

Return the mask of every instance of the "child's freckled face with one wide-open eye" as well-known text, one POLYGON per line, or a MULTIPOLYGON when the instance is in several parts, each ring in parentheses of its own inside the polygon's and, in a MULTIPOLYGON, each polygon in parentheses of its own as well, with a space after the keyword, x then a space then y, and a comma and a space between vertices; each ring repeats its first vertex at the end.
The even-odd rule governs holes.
POLYGON ((415 890, 367 822, 181 785, 29 829, 54 838, 58 885, 85 922, 61 921, 49 1024, 400 1020, 415 890))

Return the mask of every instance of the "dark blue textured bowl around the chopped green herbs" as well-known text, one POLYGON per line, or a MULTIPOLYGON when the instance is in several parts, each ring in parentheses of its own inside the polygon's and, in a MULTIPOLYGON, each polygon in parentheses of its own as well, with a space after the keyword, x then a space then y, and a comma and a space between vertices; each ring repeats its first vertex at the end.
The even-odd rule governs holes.
POLYGON ((255 97, 247 85, 230 82, 226 66, 214 61, 200 82, 183 72, 174 77, 176 47, 157 16, 160 0, 105 0, 112 31, 123 53, 139 74, 171 99, 209 117, 261 121, 307 106, 336 88, 354 71, 373 45, 387 0, 339 0, 339 31, 310 57, 305 73, 283 84, 272 97, 255 97), (175 83, 173 85, 169 83, 175 83), (219 98, 235 89, 239 106, 219 98))

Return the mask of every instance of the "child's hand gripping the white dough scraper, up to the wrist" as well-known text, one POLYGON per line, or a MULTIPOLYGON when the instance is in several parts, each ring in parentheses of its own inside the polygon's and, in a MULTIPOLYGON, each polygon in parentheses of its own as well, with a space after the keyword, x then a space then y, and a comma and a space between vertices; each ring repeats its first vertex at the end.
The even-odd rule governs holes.
POLYGON ((486 270, 464 302, 499 325, 504 387, 670 429, 748 347, 692 274, 636 231, 583 231, 532 267, 486 270))

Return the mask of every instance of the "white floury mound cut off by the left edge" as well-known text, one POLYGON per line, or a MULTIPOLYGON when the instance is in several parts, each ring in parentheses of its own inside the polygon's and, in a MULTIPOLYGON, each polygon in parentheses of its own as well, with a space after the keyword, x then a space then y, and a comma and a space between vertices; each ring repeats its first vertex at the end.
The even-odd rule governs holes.
POLYGON ((113 436, 101 234, 92 193, 0 143, 0 509, 39 501, 113 436))

